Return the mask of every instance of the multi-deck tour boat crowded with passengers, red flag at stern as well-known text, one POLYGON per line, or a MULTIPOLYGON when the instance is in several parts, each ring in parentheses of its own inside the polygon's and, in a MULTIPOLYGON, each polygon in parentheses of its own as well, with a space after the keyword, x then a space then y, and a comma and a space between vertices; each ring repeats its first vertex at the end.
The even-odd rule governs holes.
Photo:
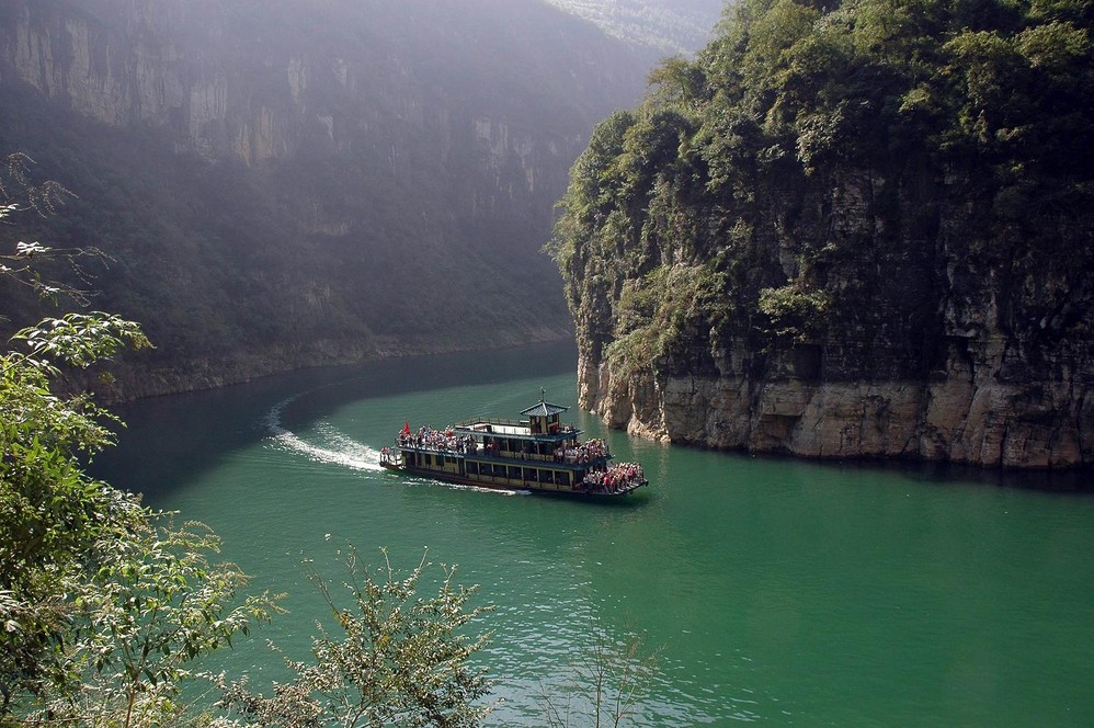
POLYGON ((480 488, 583 497, 626 496, 649 485, 636 463, 612 463, 603 440, 581 441, 581 430, 558 420, 568 407, 539 403, 524 420, 472 420, 444 430, 411 431, 403 422, 380 465, 480 488))

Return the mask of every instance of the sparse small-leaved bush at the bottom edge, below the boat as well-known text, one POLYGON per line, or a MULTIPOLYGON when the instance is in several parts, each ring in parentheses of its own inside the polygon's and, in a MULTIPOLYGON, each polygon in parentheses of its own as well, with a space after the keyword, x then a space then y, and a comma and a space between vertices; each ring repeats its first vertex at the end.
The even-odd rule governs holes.
POLYGON ((476 589, 457 587, 455 568, 443 568, 436 596, 418 595, 424 558, 397 578, 385 554, 374 573, 351 549, 343 582, 349 606, 328 580, 312 575, 337 626, 320 625, 312 660, 286 660, 295 673, 272 696, 252 692, 246 680, 216 678, 220 706, 255 726, 476 726, 492 706, 481 699, 490 682, 468 659, 488 636, 460 629, 488 610, 468 607, 476 589))

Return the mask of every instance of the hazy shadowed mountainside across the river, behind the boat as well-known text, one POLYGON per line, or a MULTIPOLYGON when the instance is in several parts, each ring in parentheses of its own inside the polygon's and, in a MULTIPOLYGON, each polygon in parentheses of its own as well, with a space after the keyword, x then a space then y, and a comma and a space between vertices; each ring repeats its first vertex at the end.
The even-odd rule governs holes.
POLYGON ((41 241, 104 251, 70 282, 157 346, 122 396, 555 339, 554 203, 656 55, 539 0, 12 0, 0 149, 78 195, 41 241))

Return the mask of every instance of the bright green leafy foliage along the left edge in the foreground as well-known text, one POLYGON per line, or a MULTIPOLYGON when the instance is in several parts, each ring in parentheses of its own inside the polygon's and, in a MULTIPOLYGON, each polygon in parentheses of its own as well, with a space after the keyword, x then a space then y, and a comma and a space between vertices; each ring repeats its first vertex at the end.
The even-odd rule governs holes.
MULTIPOLYGON (((0 221, 53 207, 9 158, 0 221), (22 193, 22 197, 19 196, 22 193)), ((18 241, 0 285, 54 296, 38 266, 58 251, 18 241)), ((82 254, 81 251, 80 254, 82 254)), ((62 257, 71 253, 60 251, 62 257)), ((103 312, 67 314, 19 331, 0 353, 0 723, 129 726, 163 723, 190 666, 267 615, 237 602, 244 576, 214 564, 218 542, 173 528, 83 467, 113 444, 115 418, 65 375, 124 346, 140 327, 103 312)))

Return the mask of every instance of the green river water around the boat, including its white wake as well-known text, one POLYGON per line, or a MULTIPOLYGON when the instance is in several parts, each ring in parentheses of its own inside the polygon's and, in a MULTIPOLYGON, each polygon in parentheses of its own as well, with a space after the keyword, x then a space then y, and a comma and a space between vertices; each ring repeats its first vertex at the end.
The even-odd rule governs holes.
POLYGON ((265 640, 303 656, 324 616, 305 564, 352 543, 400 569, 429 547, 497 605, 479 657, 504 698, 493 725, 544 725, 539 694, 573 682, 594 635, 638 633, 660 656, 635 725, 1094 726, 1082 478, 1016 487, 631 439, 577 410, 574 360, 422 357, 148 400, 122 410, 95 471, 207 523, 255 588, 287 593, 288 614, 221 658, 257 682, 283 676, 265 640), (377 465, 404 419, 515 418, 540 387, 651 487, 597 504, 377 465))

